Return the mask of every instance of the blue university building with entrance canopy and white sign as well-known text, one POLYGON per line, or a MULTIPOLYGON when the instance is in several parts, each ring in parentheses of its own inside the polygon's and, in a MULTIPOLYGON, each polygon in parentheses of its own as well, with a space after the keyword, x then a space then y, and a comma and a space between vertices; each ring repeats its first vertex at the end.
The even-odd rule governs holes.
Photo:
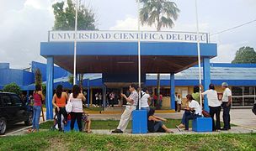
MULTIPOLYGON (((51 31, 48 42, 41 42, 40 55, 47 64, 32 62, 31 72, 19 70, 24 76, 14 76, 15 70, 8 64, 0 65, 0 73, 9 74, 10 79, 0 76, 0 89, 11 81, 17 81, 24 91, 33 90, 35 68, 39 68, 46 83, 46 107, 52 111, 53 89, 62 84, 72 86, 68 76, 73 72, 72 31, 51 31), (54 66, 54 65, 58 65, 54 66), (23 77, 23 79, 22 79, 23 77), (17 78, 17 79, 16 79, 17 78)), ((138 81, 137 39, 141 39, 141 81, 154 93, 157 76, 161 73, 163 107, 174 107, 174 93, 182 98, 199 84, 197 35, 171 32, 124 32, 124 31, 79 31, 77 33, 77 74, 83 74, 83 87, 87 91, 88 104, 93 104, 96 91, 125 92, 131 82, 138 81)), ((211 64, 217 55, 216 44, 209 43, 208 34, 200 34, 200 56, 203 86, 210 83, 220 85, 227 81, 232 88, 232 107, 252 106, 255 102, 256 65, 211 64)), ((2 74, 1 74, 2 75, 2 74)), ((207 107, 207 102, 205 102, 207 107)), ((47 112, 47 118, 52 112, 47 112)))

